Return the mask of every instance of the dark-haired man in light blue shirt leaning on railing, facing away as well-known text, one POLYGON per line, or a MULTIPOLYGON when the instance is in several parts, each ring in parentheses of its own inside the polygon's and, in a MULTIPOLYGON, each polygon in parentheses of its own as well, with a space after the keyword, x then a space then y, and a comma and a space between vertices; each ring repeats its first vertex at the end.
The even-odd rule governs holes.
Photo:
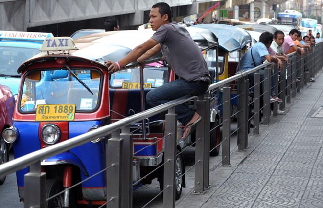
MULTIPOLYGON (((259 37, 259 42, 254 44, 241 58, 240 63, 242 71, 247 71, 252 69, 256 66, 261 65, 265 60, 268 62, 275 62, 278 64, 278 68, 282 68, 283 64, 282 61, 277 58, 278 55, 270 45, 273 42, 273 34, 270 32, 263 32, 259 37)), ((260 80, 264 80, 264 70, 260 69, 260 80)), ((254 73, 248 75, 249 78, 249 85, 252 87, 254 86, 254 73)), ((262 82, 262 88, 264 89, 264 82, 262 82)), ((271 90, 272 98, 278 101, 278 97, 275 95, 275 91, 271 90)))

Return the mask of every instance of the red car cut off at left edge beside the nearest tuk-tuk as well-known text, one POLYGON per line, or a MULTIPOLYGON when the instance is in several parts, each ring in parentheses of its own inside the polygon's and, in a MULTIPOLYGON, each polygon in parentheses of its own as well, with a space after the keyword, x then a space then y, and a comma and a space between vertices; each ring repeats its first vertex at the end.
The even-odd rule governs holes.
MULTIPOLYGON (((9 147, 3 137, 4 129, 12 125, 15 100, 9 87, 0 84, 0 165, 9 161, 9 147)), ((0 185, 3 184, 5 177, 0 178, 0 185)))

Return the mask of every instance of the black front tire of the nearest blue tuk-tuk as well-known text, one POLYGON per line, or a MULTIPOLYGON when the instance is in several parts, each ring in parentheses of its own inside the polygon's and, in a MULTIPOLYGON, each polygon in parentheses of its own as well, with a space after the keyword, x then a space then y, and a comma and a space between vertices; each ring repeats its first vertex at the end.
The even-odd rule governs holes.
MULTIPOLYGON (((63 191, 63 184, 58 179, 47 179, 46 180, 46 199, 63 191)), ((54 199, 46 201, 46 208, 63 208, 64 196, 60 194, 54 199)))

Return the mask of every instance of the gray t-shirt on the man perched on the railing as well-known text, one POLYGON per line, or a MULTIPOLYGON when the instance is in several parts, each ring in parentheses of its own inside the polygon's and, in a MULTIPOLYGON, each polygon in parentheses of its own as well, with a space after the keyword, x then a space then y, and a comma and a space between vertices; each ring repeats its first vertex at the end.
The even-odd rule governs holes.
POLYGON ((161 43, 161 51, 169 66, 186 81, 208 76, 208 65, 185 27, 175 21, 161 25, 152 36, 161 43))

